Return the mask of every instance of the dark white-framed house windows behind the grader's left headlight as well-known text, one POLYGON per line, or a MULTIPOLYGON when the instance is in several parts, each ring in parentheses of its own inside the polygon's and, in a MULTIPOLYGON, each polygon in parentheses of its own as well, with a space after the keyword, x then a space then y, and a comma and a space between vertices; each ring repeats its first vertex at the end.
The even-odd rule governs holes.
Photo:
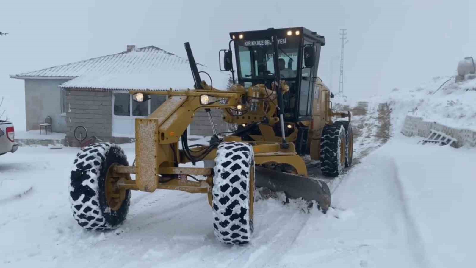
POLYGON ((129 93, 114 93, 114 115, 149 116, 165 102, 166 96, 150 95, 150 100, 138 103, 132 100, 129 93))

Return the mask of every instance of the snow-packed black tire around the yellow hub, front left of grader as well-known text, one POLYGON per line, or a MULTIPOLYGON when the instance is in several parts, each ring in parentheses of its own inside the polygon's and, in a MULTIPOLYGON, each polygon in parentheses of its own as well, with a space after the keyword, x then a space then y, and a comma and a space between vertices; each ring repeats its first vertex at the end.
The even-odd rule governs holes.
POLYGON ((106 175, 114 163, 129 165, 124 151, 115 144, 90 144, 76 155, 71 170, 69 202, 74 219, 87 230, 112 230, 126 219, 130 190, 126 191, 126 199, 118 210, 111 210, 106 201, 106 175))

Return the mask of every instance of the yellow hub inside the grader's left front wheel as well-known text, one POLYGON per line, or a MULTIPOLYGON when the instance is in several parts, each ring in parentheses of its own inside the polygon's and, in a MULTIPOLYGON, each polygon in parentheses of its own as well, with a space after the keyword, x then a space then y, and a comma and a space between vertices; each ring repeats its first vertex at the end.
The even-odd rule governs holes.
POLYGON ((114 173, 114 166, 117 165, 119 164, 114 163, 109 166, 105 182, 106 202, 111 210, 118 210, 122 206, 122 202, 126 199, 126 189, 119 188, 119 180, 130 180, 129 174, 114 173))

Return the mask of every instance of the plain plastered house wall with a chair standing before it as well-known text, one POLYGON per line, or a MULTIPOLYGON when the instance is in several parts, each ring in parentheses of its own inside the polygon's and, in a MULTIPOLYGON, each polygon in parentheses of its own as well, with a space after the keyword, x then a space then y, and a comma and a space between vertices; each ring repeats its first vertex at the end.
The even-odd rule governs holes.
POLYGON ((60 84, 66 80, 25 79, 26 129, 39 129, 47 116, 52 117, 53 132, 66 133, 66 116, 61 115, 60 84))

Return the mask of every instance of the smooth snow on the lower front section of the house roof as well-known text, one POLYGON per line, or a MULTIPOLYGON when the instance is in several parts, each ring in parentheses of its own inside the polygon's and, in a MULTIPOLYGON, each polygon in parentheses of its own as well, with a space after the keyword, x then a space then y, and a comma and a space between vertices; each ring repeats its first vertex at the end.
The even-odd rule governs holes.
MULTIPOLYGON (((225 90, 228 76, 218 71, 208 71, 213 87, 225 90)), ((210 85, 206 74, 200 78, 210 85)), ((81 75, 60 85, 62 88, 84 88, 105 90, 174 90, 193 89, 193 77, 190 70, 160 71, 157 73, 127 73, 81 75)))

